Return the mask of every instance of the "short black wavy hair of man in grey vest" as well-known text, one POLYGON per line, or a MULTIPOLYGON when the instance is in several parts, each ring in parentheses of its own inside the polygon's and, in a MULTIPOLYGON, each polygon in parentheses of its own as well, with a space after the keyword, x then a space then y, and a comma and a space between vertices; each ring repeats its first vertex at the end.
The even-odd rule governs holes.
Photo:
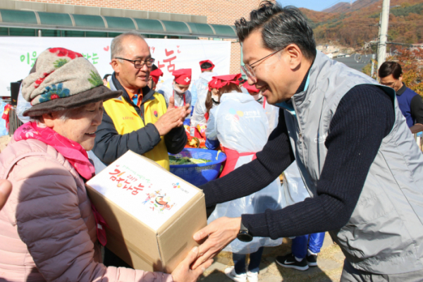
POLYGON ((282 7, 271 1, 262 1, 257 10, 251 11, 250 21, 240 18, 235 21, 235 27, 240 42, 244 42, 251 32, 262 30, 264 47, 278 51, 295 44, 306 59, 314 61, 316 58, 312 27, 293 6, 282 7))

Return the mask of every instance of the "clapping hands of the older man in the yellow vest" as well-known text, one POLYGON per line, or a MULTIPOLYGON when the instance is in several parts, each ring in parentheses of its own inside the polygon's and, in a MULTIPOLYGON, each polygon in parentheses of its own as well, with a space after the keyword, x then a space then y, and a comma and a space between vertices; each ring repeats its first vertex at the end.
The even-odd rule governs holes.
MULTIPOLYGON (((173 97, 169 99, 169 106, 166 114, 161 116, 154 125, 159 131, 160 136, 164 136, 168 134, 173 128, 178 128, 183 125, 183 121, 185 121, 185 117, 187 116, 187 109, 186 107, 189 105, 181 106, 179 108, 175 108, 175 102, 173 97)), ((189 114, 189 111, 188 111, 189 114)))

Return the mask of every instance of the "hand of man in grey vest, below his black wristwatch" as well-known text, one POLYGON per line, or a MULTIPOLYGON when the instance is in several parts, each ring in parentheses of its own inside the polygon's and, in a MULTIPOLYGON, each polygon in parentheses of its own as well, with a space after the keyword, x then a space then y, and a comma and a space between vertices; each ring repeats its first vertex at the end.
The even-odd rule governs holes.
POLYGON ((208 226, 202 228, 194 234, 194 240, 200 242, 202 239, 209 238, 205 240, 202 245, 200 245, 200 256, 197 258, 195 263, 192 265, 192 269, 197 269, 198 266, 207 262, 208 259, 211 259, 215 255, 219 254, 224 247, 229 243, 235 240, 236 236, 240 232, 241 227, 241 218, 230 218, 230 217, 221 217, 212 221, 208 226))

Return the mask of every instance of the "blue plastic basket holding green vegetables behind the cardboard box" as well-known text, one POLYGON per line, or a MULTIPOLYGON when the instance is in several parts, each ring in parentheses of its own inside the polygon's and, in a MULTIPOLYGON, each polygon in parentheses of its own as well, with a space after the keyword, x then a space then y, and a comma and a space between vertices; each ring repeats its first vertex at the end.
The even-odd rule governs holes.
POLYGON ((211 160, 205 164, 171 165, 171 173, 197 187, 216 179, 219 176, 221 164, 226 161, 226 154, 209 149, 185 148, 179 154, 170 155, 211 160))

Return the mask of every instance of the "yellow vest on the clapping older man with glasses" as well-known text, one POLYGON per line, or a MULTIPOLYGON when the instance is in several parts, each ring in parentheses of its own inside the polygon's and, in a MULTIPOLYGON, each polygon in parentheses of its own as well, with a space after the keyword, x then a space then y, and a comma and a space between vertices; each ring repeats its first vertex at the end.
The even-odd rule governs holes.
MULTIPOLYGON (((144 122, 142 121, 142 118, 138 116, 134 107, 126 102, 126 100, 122 97, 109 99, 104 102, 103 106, 107 114, 111 117, 116 131, 123 135, 140 128, 144 128, 145 124, 156 123, 159 117, 166 114, 166 102, 163 95, 156 92, 153 97, 154 99, 149 99, 144 103, 144 122)), ((168 150, 163 136, 161 137, 159 144, 157 144, 151 151, 142 155, 156 161, 157 164, 163 168, 170 170, 168 150)))

